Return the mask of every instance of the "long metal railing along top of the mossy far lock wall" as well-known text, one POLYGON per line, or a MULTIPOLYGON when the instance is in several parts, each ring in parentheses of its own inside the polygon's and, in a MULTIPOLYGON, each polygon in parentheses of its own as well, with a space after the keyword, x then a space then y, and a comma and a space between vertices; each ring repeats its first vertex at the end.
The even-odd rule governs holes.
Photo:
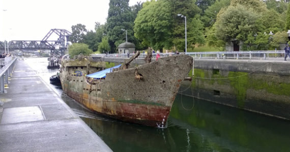
MULTIPOLYGON (((153 53, 153 58, 157 53, 153 53)), ((180 54, 187 54, 194 58, 208 58, 208 59, 264 59, 267 58, 281 58, 284 57, 284 50, 273 51, 222 51, 222 52, 181 52, 180 54)), ((129 54, 131 57, 133 53, 129 54)), ((160 53, 160 57, 176 55, 175 53, 160 53)), ((139 58, 146 57, 147 54, 140 53, 139 58)), ((110 58, 128 58, 128 54, 91 54, 91 57, 110 57, 110 58)))

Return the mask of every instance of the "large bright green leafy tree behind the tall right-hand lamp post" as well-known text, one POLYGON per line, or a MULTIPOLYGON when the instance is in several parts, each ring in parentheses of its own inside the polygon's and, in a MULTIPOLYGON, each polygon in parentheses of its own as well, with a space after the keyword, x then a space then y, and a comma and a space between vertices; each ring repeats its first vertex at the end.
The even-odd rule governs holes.
POLYGON ((163 48, 175 46, 185 50, 185 20, 178 14, 187 17, 187 45, 191 47, 199 42, 203 43, 203 25, 195 16, 200 9, 191 0, 160 0, 143 4, 134 25, 137 39, 144 45, 162 52, 163 48))

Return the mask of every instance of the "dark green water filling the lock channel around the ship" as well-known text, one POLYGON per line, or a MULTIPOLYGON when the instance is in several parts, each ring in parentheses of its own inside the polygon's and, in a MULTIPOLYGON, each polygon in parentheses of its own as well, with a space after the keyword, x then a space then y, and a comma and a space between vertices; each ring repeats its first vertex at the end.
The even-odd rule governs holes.
MULTIPOLYGON (((46 59, 27 59, 47 80, 46 59), (38 68, 37 68, 38 67, 38 68)), ((290 151, 290 122, 178 94, 167 128, 95 115, 50 85, 113 151, 290 151)))

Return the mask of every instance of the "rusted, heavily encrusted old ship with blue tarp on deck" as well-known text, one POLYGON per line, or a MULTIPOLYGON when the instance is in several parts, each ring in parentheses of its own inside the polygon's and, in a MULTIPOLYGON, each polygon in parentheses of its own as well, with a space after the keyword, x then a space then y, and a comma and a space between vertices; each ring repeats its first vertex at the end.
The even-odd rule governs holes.
POLYGON ((63 91, 101 115, 125 122, 165 127, 181 82, 192 68, 192 57, 168 56, 131 67, 130 62, 138 54, 120 67, 103 72, 103 76, 99 70, 105 68, 104 62, 82 57, 63 60, 60 73, 63 91), (94 73, 96 71, 99 72, 94 73))

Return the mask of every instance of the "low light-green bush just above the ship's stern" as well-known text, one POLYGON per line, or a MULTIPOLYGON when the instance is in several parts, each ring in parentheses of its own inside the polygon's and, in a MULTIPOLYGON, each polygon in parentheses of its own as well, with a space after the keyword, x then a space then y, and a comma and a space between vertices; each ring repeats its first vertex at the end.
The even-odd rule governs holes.
POLYGON ((75 55, 83 54, 83 55, 90 55, 93 51, 89 49, 89 46, 83 43, 73 43, 69 47, 69 55, 73 58, 75 55))

